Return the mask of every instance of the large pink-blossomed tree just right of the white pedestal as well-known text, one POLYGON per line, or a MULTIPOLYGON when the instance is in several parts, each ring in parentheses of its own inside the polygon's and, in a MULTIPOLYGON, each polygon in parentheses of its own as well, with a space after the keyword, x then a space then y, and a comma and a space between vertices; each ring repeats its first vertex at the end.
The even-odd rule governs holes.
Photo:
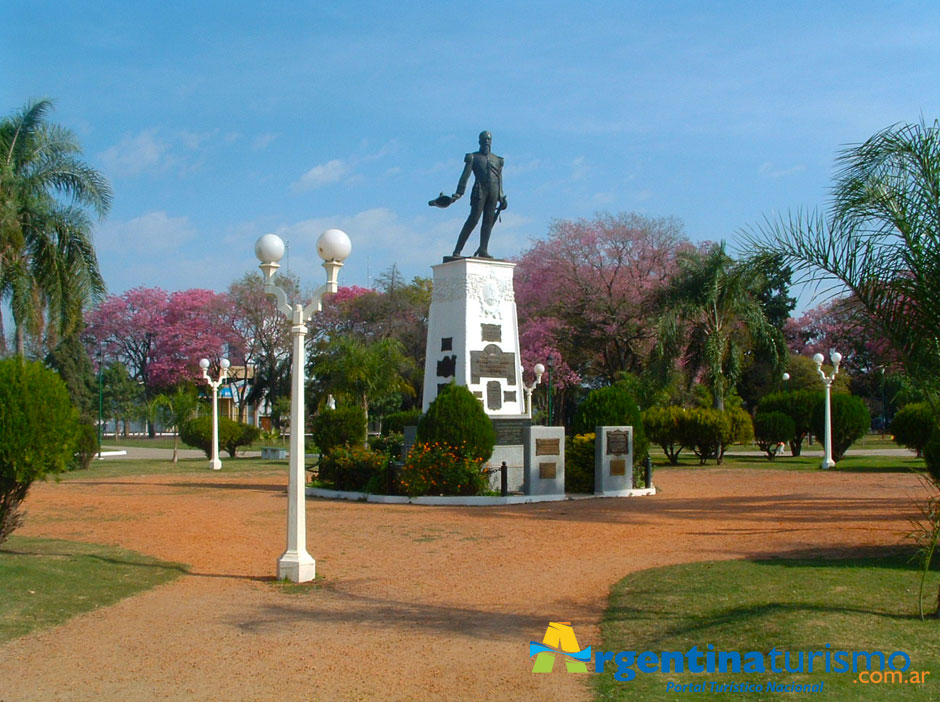
MULTIPOLYGON (((538 338, 550 336, 579 380, 610 383, 622 371, 639 372, 655 332, 646 301, 690 246, 674 219, 605 214, 555 221, 548 237, 517 260, 520 327, 534 334, 534 320, 552 320, 538 338)), ((525 355, 525 343, 523 349, 525 355)))

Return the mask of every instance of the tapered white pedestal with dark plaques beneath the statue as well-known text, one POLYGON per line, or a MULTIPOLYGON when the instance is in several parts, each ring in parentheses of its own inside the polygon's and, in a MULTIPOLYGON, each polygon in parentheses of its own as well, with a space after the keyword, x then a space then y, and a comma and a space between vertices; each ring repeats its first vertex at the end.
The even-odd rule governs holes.
MULTIPOLYGON (((525 387, 519 359, 519 322, 512 287, 514 263, 461 258, 432 266, 434 287, 428 319, 422 411, 440 389, 467 387, 490 418, 526 423, 525 387)), ((490 458, 510 468, 510 490, 522 484, 522 427, 518 439, 500 443, 490 458)), ((499 476, 495 475, 495 485, 499 476)))

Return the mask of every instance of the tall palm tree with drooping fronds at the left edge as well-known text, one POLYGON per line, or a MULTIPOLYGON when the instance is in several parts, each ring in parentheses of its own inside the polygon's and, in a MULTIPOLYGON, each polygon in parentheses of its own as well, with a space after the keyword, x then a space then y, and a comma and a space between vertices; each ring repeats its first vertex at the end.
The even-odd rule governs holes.
POLYGON ((103 217, 111 187, 81 159, 74 134, 47 121, 51 109, 38 100, 0 120, 0 299, 10 304, 20 355, 46 322, 53 339, 74 331, 83 307, 105 291, 87 209, 103 217))

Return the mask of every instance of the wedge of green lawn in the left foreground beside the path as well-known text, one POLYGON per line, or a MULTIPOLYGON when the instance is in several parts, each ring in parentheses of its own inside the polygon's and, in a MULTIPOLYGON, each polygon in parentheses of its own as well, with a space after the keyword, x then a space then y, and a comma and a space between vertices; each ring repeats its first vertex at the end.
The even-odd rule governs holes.
POLYGON ((185 572, 120 548, 13 535, 0 547, 0 644, 185 572))

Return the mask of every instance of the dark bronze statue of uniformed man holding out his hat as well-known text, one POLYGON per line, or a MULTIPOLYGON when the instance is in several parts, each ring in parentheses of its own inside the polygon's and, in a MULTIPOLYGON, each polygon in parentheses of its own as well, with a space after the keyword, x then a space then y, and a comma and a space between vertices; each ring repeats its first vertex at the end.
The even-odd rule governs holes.
POLYGON ((464 244, 470 238, 470 233, 483 216, 480 226, 480 248, 473 254, 480 258, 493 258, 487 247, 490 243, 490 234, 499 213, 509 207, 509 200, 503 193, 503 159, 490 151, 493 144, 493 135, 489 132, 480 132, 480 150, 464 156, 463 173, 457 182, 457 192, 448 197, 441 193, 436 200, 428 204, 436 207, 447 207, 463 197, 467 189, 470 173, 473 173, 473 188, 470 191, 470 214, 457 237, 457 246, 454 247, 454 257, 459 257, 464 244))

